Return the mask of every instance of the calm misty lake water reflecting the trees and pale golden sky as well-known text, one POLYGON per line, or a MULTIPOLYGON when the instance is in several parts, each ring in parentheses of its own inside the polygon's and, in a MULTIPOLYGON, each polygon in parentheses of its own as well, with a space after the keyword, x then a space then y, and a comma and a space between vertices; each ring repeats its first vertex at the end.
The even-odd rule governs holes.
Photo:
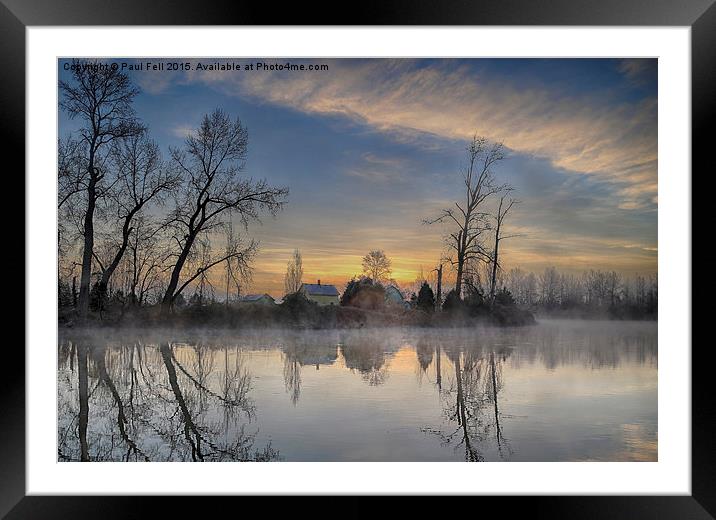
POLYGON ((655 461, 657 325, 62 331, 58 460, 655 461))

